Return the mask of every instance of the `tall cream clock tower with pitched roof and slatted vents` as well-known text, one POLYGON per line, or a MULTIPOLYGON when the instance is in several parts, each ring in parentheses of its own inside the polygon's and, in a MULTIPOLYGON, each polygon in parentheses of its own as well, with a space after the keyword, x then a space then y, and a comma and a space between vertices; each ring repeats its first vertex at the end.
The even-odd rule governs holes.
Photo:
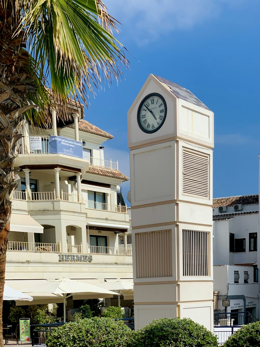
POLYGON ((128 111, 135 328, 164 317, 213 330, 213 112, 149 75, 128 111))

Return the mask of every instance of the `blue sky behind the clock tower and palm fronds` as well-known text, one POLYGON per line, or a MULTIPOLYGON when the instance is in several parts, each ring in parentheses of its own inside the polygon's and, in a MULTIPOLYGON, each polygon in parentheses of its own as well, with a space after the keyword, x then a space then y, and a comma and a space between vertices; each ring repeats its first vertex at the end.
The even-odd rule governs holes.
MULTIPOLYGON (((104 0, 122 25, 130 69, 90 99, 85 119, 114 135, 105 159, 129 177, 127 111, 150 73, 189 89, 215 114, 214 197, 258 193, 258 0, 104 0)), ((126 197, 129 182, 122 184, 126 197)))

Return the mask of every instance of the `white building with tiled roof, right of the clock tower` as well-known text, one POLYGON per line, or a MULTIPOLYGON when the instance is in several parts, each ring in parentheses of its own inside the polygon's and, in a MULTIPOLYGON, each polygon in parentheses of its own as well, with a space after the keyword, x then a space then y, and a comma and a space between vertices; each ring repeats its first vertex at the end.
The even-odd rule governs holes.
POLYGON ((213 200, 214 308, 260 316, 258 225, 258 194, 213 200))

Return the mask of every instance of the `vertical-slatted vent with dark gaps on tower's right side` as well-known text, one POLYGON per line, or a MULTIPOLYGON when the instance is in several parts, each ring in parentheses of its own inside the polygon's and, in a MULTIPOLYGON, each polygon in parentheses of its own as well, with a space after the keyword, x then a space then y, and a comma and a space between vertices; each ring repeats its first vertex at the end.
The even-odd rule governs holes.
POLYGON ((182 230, 183 276, 209 276, 209 232, 182 230))

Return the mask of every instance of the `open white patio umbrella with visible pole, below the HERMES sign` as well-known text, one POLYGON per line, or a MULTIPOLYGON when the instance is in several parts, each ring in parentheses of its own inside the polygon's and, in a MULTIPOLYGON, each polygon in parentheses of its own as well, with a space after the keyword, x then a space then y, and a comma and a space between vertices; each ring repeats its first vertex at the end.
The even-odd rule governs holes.
POLYGON ((91 296, 91 298, 93 298, 93 296, 99 298, 118 295, 118 293, 114 293, 113 291, 65 277, 50 282, 46 281, 46 283, 42 284, 40 287, 32 286, 30 288, 24 288, 23 291, 26 293, 49 293, 59 297, 63 296, 64 322, 66 321, 66 299, 72 295, 86 295, 86 298, 88 296, 91 296))

